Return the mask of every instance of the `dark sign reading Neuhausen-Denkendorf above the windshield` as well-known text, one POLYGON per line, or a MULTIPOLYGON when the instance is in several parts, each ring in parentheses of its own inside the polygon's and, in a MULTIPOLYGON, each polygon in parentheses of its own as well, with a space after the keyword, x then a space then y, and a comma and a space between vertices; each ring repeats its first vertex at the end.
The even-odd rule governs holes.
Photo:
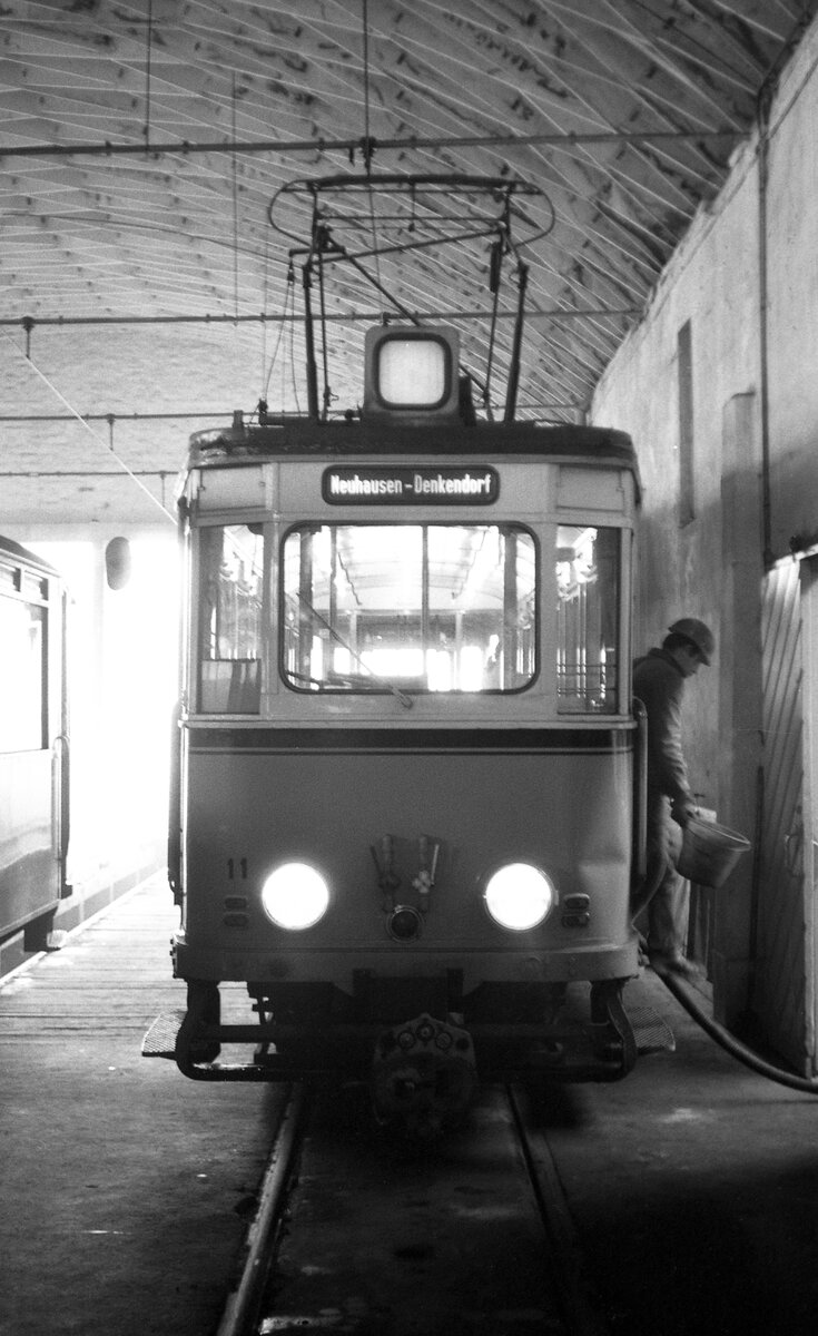
POLYGON ((481 465, 348 466, 323 470, 321 494, 330 505, 492 505, 500 496, 500 476, 481 465))

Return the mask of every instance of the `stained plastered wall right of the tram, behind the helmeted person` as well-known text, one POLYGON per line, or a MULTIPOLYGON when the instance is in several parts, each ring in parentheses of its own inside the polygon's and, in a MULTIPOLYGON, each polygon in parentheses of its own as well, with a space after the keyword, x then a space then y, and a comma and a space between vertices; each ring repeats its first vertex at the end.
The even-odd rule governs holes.
MULTIPOLYGON (((694 788, 751 838, 763 800, 765 572, 818 544, 818 28, 813 27, 724 188, 691 222, 646 318, 604 374, 592 421, 634 437, 644 485, 638 648, 688 613, 718 661, 688 688, 694 788), (692 518, 680 509, 679 354, 690 322, 692 518), (762 796, 759 798, 759 794, 762 796)), ((754 1005, 753 862, 715 915, 716 1014, 754 1005)), ((763 1018, 762 1018, 763 1021, 763 1018)))

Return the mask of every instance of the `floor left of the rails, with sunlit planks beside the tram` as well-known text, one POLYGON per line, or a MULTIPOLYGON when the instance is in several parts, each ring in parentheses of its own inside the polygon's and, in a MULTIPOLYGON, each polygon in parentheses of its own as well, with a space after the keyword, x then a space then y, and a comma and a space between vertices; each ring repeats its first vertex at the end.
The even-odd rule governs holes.
POLYGON ((142 1057, 176 922, 151 878, 0 985, 3 1336, 218 1325, 278 1092, 142 1057))

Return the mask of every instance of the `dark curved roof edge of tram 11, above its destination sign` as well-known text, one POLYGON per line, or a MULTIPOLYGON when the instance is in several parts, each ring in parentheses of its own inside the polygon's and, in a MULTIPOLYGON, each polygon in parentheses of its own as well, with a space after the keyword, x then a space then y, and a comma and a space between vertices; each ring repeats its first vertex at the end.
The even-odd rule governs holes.
POLYGON ((512 456, 587 460, 630 466, 636 472, 634 442, 612 428, 540 426, 531 422, 470 426, 450 422, 385 426, 380 422, 315 422, 294 418, 270 426, 233 426, 196 432, 190 438, 188 468, 227 461, 241 464, 281 456, 512 456))

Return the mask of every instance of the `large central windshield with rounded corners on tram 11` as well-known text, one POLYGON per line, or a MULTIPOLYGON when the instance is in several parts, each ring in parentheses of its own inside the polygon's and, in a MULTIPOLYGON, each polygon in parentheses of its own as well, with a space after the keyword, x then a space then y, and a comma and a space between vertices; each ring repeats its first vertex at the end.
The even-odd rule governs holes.
POLYGON ((520 525, 309 525, 282 561, 295 691, 521 691, 536 675, 533 536, 520 525))

